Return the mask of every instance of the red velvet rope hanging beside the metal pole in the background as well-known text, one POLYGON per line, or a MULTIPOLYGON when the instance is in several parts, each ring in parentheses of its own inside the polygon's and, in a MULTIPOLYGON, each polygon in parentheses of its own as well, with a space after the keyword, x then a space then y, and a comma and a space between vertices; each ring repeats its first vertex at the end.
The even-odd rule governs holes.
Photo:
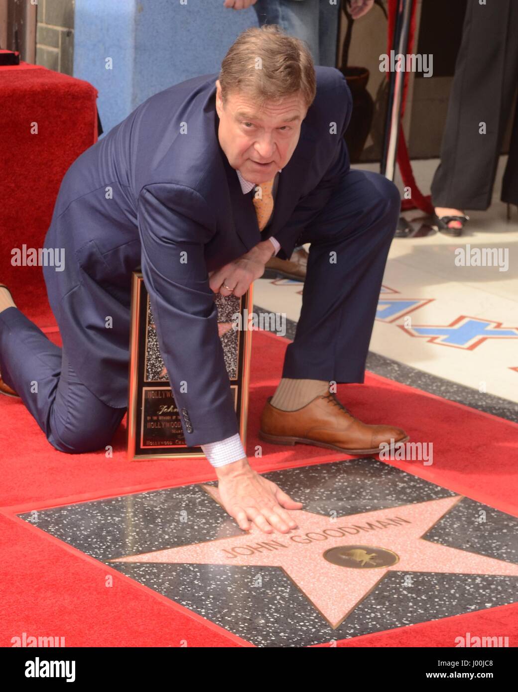
MULTIPOLYGON (((387 53, 390 55, 392 49, 392 36, 394 32, 395 17, 398 10, 398 4, 401 0, 388 0, 388 50, 387 53)), ((417 2, 414 2, 412 8, 412 15, 410 20, 410 30, 409 30, 409 45, 407 48, 407 53, 412 52, 413 40, 416 35, 416 8, 417 2)), ((387 72, 387 79, 390 73, 387 72)), ((401 104, 401 120, 404 116, 404 107, 407 103, 407 92, 409 85, 409 73, 404 73, 404 86, 401 104)), ((424 195, 418 188, 416 179, 413 177, 412 167, 410 165, 409 152, 407 149, 407 141, 404 138, 403 126, 400 120, 400 137, 398 145, 398 166, 400 167, 401 177, 403 179, 403 185, 405 188, 410 188, 411 199, 402 199, 401 209, 420 209, 427 214, 434 213, 434 207, 431 204, 430 195, 424 195)))

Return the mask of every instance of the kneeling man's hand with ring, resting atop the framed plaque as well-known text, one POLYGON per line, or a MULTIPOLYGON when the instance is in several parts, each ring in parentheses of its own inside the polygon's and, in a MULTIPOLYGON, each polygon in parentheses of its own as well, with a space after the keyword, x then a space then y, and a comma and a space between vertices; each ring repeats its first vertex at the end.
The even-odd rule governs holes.
POLYGON ((273 254, 274 245, 271 241, 262 241, 237 260, 209 272, 208 284, 214 293, 240 298, 247 293, 250 284, 265 273, 265 264, 273 254), (223 284, 229 288, 224 288, 223 284))

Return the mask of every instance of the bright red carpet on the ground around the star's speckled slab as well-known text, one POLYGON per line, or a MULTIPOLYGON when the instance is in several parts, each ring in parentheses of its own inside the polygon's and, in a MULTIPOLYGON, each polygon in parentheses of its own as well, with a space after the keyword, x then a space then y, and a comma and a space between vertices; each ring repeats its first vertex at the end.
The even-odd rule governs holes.
MULTIPOLYGON (((253 335, 247 441, 251 458, 260 444, 260 411, 280 377, 286 345, 286 340, 272 334, 253 335)), ((517 514, 513 455, 518 426, 373 374, 367 375, 365 385, 339 385, 338 393, 366 421, 389 421, 406 428, 412 441, 434 443, 433 466, 391 462, 394 466, 517 514)), ((21 632, 63 635, 67 646, 179 646, 184 639, 188 646, 247 646, 118 572, 112 573, 114 588, 105 588, 109 568, 13 517, 22 510, 213 480, 205 460, 127 462, 123 426, 114 439, 112 459, 102 452, 63 455, 48 444, 21 403, 1 397, 0 410, 0 598, 8 613, 0 624, 3 646, 21 632)), ((263 457, 253 464, 258 471, 271 471, 344 456, 316 447, 263 444, 263 457)), ((513 646, 517 613, 517 606, 503 606, 348 639, 340 645, 452 646, 453 632, 458 634, 460 627, 462 632, 488 636, 506 632, 513 646)))

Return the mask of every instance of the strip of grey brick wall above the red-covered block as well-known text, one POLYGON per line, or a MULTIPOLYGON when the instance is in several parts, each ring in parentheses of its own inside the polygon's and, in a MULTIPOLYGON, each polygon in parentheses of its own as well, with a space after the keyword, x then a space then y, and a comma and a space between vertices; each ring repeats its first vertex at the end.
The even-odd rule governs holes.
POLYGON ((73 73, 74 0, 38 0, 36 64, 73 73))

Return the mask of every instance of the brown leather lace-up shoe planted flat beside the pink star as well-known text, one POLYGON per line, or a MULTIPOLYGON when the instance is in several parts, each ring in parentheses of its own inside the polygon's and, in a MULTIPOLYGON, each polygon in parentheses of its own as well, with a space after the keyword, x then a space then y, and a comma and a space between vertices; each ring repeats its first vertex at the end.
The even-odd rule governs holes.
POLYGON ((406 442, 401 428, 371 426, 355 418, 336 394, 315 397, 303 408, 282 411, 268 397, 262 410, 260 439, 274 444, 313 444, 346 454, 377 454, 379 445, 406 442))

